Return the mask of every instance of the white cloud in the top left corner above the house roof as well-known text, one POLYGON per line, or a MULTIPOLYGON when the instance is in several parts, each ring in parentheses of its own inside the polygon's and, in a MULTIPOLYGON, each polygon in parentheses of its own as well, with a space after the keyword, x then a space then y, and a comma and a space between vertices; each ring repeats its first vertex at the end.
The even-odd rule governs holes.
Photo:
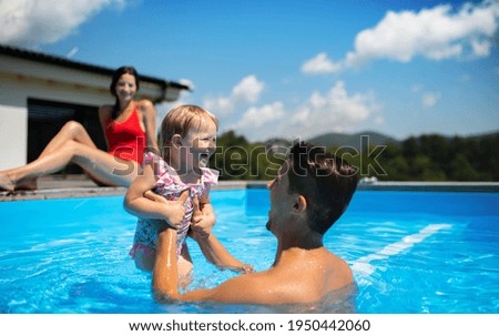
POLYGON ((124 4, 125 0, 0 1, 0 43, 31 48, 53 43, 104 7, 124 4))

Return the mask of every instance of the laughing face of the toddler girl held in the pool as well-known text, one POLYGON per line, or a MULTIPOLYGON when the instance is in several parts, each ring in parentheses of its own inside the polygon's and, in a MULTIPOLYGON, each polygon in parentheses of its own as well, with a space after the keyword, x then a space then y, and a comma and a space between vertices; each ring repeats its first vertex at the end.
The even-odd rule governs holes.
POLYGON ((197 129, 193 129, 182 139, 182 156, 187 170, 207 166, 216 150, 216 125, 211 119, 204 119, 197 129))

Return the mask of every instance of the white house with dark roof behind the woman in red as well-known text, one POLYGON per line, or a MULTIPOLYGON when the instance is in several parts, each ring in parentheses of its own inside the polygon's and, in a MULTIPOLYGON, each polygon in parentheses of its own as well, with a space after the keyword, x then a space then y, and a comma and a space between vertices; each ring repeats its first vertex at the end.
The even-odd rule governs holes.
MULTIPOLYGON (((98 109, 114 103, 109 92, 114 70, 0 44, 0 171, 37 159, 69 120, 81 122, 105 150, 98 109)), ((190 90, 140 75, 138 98, 155 104, 190 90)))

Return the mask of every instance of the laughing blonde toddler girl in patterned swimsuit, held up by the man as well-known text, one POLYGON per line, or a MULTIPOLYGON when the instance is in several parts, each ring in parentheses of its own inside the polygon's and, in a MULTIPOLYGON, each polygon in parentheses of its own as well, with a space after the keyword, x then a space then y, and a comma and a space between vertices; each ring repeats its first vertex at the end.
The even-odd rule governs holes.
POLYGON ((192 261, 185 240, 190 234, 200 244, 206 258, 231 268, 248 271, 248 266, 232 257, 217 242, 217 251, 202 246, 211 233, 215 214, 210 204, 211 185, 218 172, 207 162, 216 149, 216 118, 195 105, 171 110, 161 125, 162 156, 144 155, 143 175, 130 186, 124 206, 139 216, 134 245, 130 252, 135 265, 152 271, 156 255, 157 232, 164 225, 177 228, 176 256, 179 275, 187 276, 192 261), (191 231, 190 231, 191 228, 191 231))

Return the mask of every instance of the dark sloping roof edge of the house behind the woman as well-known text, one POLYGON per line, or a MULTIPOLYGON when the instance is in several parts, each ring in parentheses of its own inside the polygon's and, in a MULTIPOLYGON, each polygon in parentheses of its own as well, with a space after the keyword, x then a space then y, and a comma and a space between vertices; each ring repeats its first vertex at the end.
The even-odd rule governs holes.
MULTIPOLYGON (((47 63, 47 64, 53 64, 53 65, 58 65, 58 67, 64 67, 64 68, 69 68, 69 69, 101 73, 101 74, 105 74, 109 77, 111 77, 115 71, 115 69, 77 62, 77 61, 65 59, 65 58, 55 57, 52 54, 29 51, 29 50, 19 49, 19 48, 14 48, 14 47, 10 47, 10 45, 4 45, 4 44, 0 44, 0 54, 11 55, 11 57, 20 58, 20 59, 26 59, 26 60, 32 60, 32 61, 37 61, 37 62, 47 63)), ((184 84, 181 84, 177 82, 162 80, 162 79, 150 77, 150 75, 140 74, 140 79, 141 79, 141 81, 147 81, 147 82, 157 84, 163 89, 166 89, 170 86, 170 88, 175 88, 179 90, 191 90, 191 88, 187 85, 184 85, 184 84)))

